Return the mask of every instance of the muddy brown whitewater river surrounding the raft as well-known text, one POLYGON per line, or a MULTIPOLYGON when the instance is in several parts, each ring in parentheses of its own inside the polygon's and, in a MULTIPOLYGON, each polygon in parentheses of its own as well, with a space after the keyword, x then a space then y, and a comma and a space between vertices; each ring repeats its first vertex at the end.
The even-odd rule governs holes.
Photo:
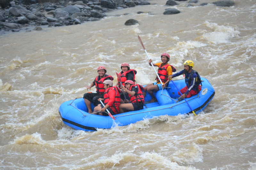
POLYGON ((1 34, 0 169, 255 170, 256 1, 233 1, 185 1, 163 15, 166 0, 149 0, 100 21, 1 34), (131 18, 139 24, 125 26, 131 18), (60 104, 82 97, 98 66, 114 83, 123 62, 137 83, 155 81, 138 35, 154 63, 163 52, 178 71, 194 61, 216 92, 204 112, 93 132, 66 126, 60 104))

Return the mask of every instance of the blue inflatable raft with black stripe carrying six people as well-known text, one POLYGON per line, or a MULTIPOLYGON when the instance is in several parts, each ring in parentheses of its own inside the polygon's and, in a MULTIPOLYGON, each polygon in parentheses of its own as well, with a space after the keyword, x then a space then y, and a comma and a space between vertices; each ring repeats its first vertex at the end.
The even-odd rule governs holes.
MULTIPOLYGON (((205 78, 201 78, 201 80, 203 85, 202 90, 198 93, 198 95, 187 98, 188 104, 194 110, 196 115, 204 110, 204 108, 209 104, 215 94, 214 89, 209 81, 205 78)), ((179 89, 185 87, 184 79, 175 80, 173 82, 179 89)), ((158 102, 148 103, 146 104, 147 107, 144 106, 144 109, 142 110, 114 115, 116 120, 109 116, 88 114, 88 109, 84 103, 83 98, 78 98, 62 103, 59 108, 59 113, 62 121, 66 125, 74 129, 85 131, 94 131, 98 128, 109 129, 114 126, 125 126, 160 115, 176 116, 179 114, 192 113, 185 100, 182 100, 178 103, 176 102, 180 95, 178 95, 178 91, 172 82, 169 83, 168 88, 157 91, 155 96, 158 102)), ((151 97, 147 93, 145 97, 145 103, 150 100, 151 97)))

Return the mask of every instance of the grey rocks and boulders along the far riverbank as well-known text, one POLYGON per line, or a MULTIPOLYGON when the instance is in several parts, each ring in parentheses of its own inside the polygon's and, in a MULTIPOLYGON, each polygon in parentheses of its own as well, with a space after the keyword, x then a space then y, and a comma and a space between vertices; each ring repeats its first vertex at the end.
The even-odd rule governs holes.
MULTIPOLYGON (((179 5, 179 1, 167 0, 166 5, 179 5), (177 2, 178 1, 178 2, 177 2)), ((198 0, 188 1, 188 7, 197 4, 198 0)), ((85 21, 98 21, 105 13, 115 9, 149 5, 144 0, 0 0, 0 33, 5 31, 18 32, 28 26, 36 26, 34 30, 41 30, 40 26, 68 26, 81 24, 85 21)), ((201 6, 208 3, 202 3, 201 6)), ((216 1, 217 6, 233 6, 233 1, 216 1)), ((139 11, 139 13, 143 13, 139 11)), ((167 8, 164 14, 178 14, 179 10, 167 8)), ((138 23, 129 19, 125 25, 138 23)))

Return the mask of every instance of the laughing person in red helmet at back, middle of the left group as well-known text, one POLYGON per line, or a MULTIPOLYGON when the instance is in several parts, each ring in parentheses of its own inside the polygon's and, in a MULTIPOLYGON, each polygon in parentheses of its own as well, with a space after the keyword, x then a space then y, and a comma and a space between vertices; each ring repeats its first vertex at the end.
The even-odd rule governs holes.
MULTIPOLYGON (((121 76, 122 85, 124 85, 124 82, 126 80, 132 80, 133 82, 135 82, 135 74, 137 74, 137 71, 130 69, 130 64, 122 63, 121 69, 122 71, 119 73, 119 75, 121 76)), ((118 86, 121 87, 119 82, 118 82, 118 86)))

